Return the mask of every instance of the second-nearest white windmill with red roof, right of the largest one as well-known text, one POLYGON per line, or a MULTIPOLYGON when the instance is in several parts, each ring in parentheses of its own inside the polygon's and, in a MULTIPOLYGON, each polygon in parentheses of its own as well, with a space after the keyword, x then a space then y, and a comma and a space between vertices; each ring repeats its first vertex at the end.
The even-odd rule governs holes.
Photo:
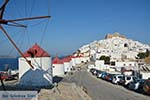
POLYGON ((53 76, 64 76, 64 64, 57 56, 52 61, 52 67, 53 76))

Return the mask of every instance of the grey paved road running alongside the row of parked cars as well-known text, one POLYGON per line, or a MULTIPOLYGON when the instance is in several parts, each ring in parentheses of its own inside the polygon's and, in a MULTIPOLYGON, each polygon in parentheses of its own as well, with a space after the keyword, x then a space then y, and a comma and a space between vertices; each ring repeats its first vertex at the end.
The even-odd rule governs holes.
POLYGON ((149 96, 127 90, 122 86, 97 79, 89 72, 82 70, 63 79, 65 82, 75 82, 87 89, 93 100, 150 100, 149 96))

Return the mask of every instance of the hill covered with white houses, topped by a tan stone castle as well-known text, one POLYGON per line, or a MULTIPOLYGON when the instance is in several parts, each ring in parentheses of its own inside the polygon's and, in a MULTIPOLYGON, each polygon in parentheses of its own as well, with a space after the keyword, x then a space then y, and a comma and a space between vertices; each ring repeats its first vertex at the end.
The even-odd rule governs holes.
MULTIPOLYGON (((112 60, 136 60, 140 52, 150 51, 148 44, 126 38, 118 32, 107 34, 105 39, 94 40, 79 48, 80 54, 84 56, 98 57, 101 55, 110 56, 112 60)), ((76 52, 77 54, 79 52, 76 52)))

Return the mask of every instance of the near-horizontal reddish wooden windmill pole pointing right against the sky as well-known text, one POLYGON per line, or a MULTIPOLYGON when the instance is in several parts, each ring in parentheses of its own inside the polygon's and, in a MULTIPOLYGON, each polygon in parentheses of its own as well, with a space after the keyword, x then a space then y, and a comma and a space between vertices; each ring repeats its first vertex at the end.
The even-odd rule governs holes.
POLYGON ((13 20, 5 20, 6 22, 14 22, 14 21, 24 21, 24 20, 34 20, 34 19, 43 19, 43 18, 50 18, 51 16, 36 16, 36 17, 29 17, 29 18, 19 18, 13 20))

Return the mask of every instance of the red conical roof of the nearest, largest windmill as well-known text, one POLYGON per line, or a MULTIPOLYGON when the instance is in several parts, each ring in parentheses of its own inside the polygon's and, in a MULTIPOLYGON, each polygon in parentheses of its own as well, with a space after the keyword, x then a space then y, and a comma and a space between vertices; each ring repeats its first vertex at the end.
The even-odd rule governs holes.
POLYGON ((37 43, 29 48, 23 55, 25 57, 50 57, 37 43))

